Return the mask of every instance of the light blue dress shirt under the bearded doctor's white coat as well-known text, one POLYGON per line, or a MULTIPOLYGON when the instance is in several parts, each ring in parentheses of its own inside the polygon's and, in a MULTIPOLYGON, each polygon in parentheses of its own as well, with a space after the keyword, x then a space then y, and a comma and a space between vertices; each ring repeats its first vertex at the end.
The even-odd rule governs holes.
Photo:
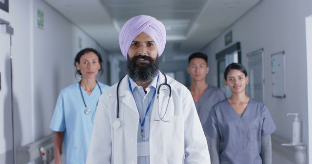
MULTIPOLYGON (((144 89, 142 86, 137 85, 136 82, 134 82, 130 78, 130 83, 133 91, 133 96, 136 100, 138 111, 140 113, 141 121, 144 119, 144 115, 147 109, 148 104, 151 102, 153 98, 153 93, 156 89, 157 84, 157 76, 154 78, 154 80, 145 88, 146 94, 144 92, 144 89)), ((155 95, 156 98, 157 95, 155 95)), ((153 110, 153 101, 151 103, 151 107, 148 111, 148 114, 145 117, 145 124, 143 126, 143 134, 145 139, 141 139, 141 124, 138 125, 137 130, 137 142, 149 142, 150 141, 150 123, 151 123, 151 114, 153 110)), ((137 157, 137 164, 150 164, 150 156, 143 156, 143 157, 137 157)))

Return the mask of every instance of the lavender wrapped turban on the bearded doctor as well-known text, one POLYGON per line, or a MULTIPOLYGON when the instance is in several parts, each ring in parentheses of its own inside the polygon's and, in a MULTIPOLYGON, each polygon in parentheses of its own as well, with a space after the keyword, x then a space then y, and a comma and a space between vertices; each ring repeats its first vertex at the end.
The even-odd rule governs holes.
POLYGON ((165 26, 155 17, 135 16, 122 26, 119 33, 119 46, 126 59, 133 39, 141 32, 148 34, 154 40, 158 49, 158 56, 164 51, 166 45, 165 26))

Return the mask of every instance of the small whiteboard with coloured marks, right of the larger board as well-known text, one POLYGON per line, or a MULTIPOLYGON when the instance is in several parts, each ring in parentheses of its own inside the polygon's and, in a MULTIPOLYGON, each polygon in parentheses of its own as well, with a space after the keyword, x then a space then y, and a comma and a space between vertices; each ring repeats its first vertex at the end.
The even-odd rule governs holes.
POLYGON ((272 96, 286 98, 285 89, 285 52, 271 55, 272 96))

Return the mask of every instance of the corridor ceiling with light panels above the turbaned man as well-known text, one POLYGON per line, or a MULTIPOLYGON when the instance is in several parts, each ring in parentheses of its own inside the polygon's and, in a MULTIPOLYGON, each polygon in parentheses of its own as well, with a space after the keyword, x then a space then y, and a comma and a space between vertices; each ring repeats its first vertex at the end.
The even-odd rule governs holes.
POLYGON ((109 53, 121 53, 118 33, 131 17, 149 15, 167 32, 164 53, 203 49, 260 0, 45 0, 109 53))

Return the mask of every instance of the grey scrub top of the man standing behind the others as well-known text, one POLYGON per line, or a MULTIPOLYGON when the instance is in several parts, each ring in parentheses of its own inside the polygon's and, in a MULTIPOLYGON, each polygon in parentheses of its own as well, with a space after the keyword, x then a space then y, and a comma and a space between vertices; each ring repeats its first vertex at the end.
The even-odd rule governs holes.
MULTIPOLYGON (((189 90, 191 90, 190 87, 188 88, 189 90)), ((225 94, 220 88, 209 84, 208 87, 205 89, 203 95, 198 99, 198 101, 194 101, 197 114, 199 116, 199 120, 202 126, 204 126, 205 122, 207 121, 211 108, 216 103, 225 98, 225 94)), ((206 133, 205 129, 206 128, 204 128, 204 132, 206 133)))

